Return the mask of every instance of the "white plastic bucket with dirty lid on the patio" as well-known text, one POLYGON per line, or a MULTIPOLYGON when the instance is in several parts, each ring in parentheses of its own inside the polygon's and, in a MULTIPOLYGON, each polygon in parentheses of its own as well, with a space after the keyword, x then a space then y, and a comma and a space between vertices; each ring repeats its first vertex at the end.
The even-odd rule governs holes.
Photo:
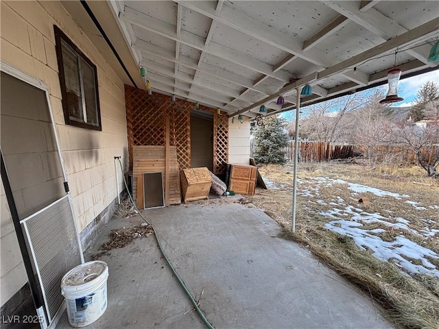
POLYGON ((78 265, 61 280, 61 293, 67 304, 72 327, 88 326, 107 308, 108 266, 101 260, 78 265))

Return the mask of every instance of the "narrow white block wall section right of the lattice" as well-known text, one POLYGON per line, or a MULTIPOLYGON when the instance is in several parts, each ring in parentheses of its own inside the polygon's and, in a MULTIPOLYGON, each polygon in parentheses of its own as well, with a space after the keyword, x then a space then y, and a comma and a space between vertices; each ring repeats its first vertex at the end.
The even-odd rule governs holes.
POLYGON ((250 119, 240 123, 235 118, 228 119, 228 162, 235 164, 248 164, 250 159, 250 119))

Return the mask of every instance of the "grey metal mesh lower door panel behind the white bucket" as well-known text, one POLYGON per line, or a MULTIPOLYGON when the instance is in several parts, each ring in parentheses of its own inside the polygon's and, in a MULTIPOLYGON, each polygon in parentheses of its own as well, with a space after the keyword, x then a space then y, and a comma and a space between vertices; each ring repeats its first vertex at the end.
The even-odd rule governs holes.
POLYGON ((21 223, 34 257, 51 321, 64 301, 60 288, 62 277, 81 264, 81 249, 69 195, 23 219, 21 223))

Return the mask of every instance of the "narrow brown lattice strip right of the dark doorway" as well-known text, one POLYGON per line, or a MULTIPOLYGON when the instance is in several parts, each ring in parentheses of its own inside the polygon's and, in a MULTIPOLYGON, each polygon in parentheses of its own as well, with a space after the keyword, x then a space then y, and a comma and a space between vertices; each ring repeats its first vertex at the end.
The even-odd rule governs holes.
POLYGON ((226 173, 228 162, 228 116, 213 114, 213 173, 226 173))

